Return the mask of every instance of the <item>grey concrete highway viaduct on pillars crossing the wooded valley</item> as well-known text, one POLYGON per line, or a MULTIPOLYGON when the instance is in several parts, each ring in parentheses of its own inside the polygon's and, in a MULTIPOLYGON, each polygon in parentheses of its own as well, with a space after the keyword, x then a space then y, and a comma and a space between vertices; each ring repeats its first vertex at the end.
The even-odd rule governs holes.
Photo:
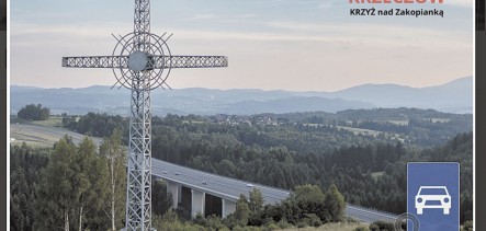
MULTIPOLYGON (((151 173, 167 182, 167 192, 172 195, 173 207, 182 206, 195 217, 216 213, 226 218, 236 210, 236 201, 241 194, 248 198, 252 188, 261 190, 264 204, 276 204, 289 197, 289 190, 239 181, 216 174, 180 166, 166 161, 151 159, 151 173)), ((394 222, 396 215, 358 206, 347 205, 347 217, 372 223, 374 221, 394 222)))

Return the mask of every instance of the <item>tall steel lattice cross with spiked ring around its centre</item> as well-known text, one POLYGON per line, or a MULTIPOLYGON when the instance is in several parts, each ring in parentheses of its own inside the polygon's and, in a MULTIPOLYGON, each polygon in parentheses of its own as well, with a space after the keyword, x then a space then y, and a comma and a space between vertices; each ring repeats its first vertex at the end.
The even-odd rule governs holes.
POLYGON ((170 36, 150 33, 150 1, 135 0, 134 32, 114 36, 111 56, 63 57, 63 67, 111 68, 116 84, 131 89, 129 153, 127 158, 127 230, 151 230, 150 90, 168 88, 172 68, 227 67, 225 56, 172 56, 170 36))

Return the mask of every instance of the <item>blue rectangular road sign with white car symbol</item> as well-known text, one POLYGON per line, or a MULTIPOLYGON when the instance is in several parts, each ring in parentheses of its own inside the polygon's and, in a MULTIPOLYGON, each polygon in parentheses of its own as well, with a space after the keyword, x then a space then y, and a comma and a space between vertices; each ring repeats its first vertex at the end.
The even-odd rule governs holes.
MULTIPOLYGON (((459 231, 459 163, 408 163, 407 212, 419 220, 420 231, 459 231)), ((411 221, 408 231, 414 230, 411 221)))

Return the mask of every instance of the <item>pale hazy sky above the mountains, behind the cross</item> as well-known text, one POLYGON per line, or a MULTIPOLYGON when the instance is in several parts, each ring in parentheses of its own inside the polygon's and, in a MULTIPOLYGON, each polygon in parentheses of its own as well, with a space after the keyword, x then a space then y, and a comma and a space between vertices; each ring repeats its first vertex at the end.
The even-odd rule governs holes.
MULTIPOLYGON (((173 89, 338 91, 415 88, 473 74, 473 0, 350 4, 349 0, 152 0, 151 33, 172 55, 224 55, 228 68, 173 69, 173 89), (444 16, 358 16, 352 8, 438 9, 444 16)), ((61 67, 64 56, 111 55, 133 31, 133 0, 10 2, 10 84, 113 85, 110 69, 61 67)))

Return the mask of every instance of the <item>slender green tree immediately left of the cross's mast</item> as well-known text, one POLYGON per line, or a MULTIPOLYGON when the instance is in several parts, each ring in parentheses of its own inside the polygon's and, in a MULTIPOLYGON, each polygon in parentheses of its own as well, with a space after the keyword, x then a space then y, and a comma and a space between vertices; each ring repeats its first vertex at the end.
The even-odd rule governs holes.
POLYGON ((113 135, 100 145, 100 154, 105 159, 109 171, 108 200, 103 209, 110 218, 112 230, 116 230, 116 224, 122 224, 125 216, 126 150, 121 140, 122 132, 115 129, 113 135))

